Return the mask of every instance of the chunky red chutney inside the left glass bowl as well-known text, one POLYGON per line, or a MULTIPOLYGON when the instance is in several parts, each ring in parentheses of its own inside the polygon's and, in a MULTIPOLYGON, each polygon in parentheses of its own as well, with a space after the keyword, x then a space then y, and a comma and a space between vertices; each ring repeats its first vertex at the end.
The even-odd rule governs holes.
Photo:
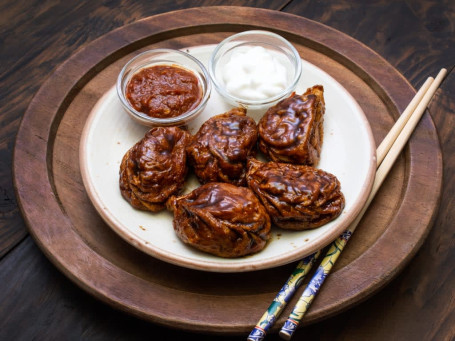
POLYGON ((155 65, 133 75, 126 87, 126 98, 137 111, 168 118, 194 109, 201 101, 202 90, 191 71, 155 65))

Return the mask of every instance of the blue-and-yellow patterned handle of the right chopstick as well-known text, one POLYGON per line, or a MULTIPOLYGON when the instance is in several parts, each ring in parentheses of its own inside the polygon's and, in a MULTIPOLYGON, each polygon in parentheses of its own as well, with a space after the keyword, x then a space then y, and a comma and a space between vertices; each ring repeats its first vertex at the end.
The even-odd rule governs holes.
POLYGON ((311 278, 310 283, 308 283, 305 291, 303 292, 302 296, 300 296, 294 309, 281 328, 280 337, 282 339, 291 339, 292 334, 294 334, 296 331, 297 326, 310 307, 311 302, 313 302, 313 299, 316 297, 319 288, 321 287, 322 283, 324 283, 327 275, 332 270, 333 265, 341 254, 341 251, 343 251, 350 237, 351 232, 345 231, 332 243, 332 245, 330 245, 329 251, 327 251, 326 256, 321 261, 321 264, 311 278))

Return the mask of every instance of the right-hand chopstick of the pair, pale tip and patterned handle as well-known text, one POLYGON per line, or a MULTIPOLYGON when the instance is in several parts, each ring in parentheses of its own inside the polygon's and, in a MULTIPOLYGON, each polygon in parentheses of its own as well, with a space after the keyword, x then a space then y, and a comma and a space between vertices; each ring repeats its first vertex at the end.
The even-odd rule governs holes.
MULTIPOLYGON (((386 178, 387 174, 389 173, 390 169, 392 168, 393 164, 395 163, 398 155, 401 153, 402 149, 406 145, 409 137, 411 136, 412 132, 414 131, 415 127, 417 126, 417 123, 419 122, 420 118, 422 117, 423 113, 425 112, 425 109, 430 102, 431 98, 433 97, 434 93, 438 89, 439 85, 441 84, 442 80, 444 79, 445 75, 447 73, 446 69, 441 69, 439 71, 438 75, 434 80, 432 80, 431 77, 428 78, 427 82, 431 83, 428 90, 425 91, 422 99, 419 101, 419 104, 417 105, 417 108, 410 114, 409 119, 407 120, 406 124, 403 123, 405 119, 403 119, 401 122, 399 122, 400 125, 403 125, 403 128, 399 132, 398 136, 395 138, 393 134, 395 133, 392 132, 392 135, 387 135, 385 140, 387 140, 386 146, 390 145, 391 147, 388 147, 389 150, 387 151, 388 148, 384 147, 384 150, 379 150, 380 153, 386 154, 385 157, 383 158, 382 162, 380 163, 380 166, 378 167, 376 171, 376 176, 375 180, 373 183, 373 188, 370 192, 370 195, 368 196, 368 199, 361 210, 360 214, 356 217, 356 219, 351 223, 351 225, 348 227, 348 229, 340 236, 338 237, 335 242, 332 243, 330 246, 329 251, 327 252, 326 256, 324 259, 321 261, 321 264, 319 265, 318 269, 316 270, 315 274, 313 275, 312 279, 308 283, 307 287, 305 288, 302 296, 299 298, 297 301, 297 304, 295 305, 293 311, 289 315, 288 319, 285 321, 283 327, 280 330, 280 337, 285 339, 285 340, 290 340, 292 337, 292 334, 295 332, 297 329, 297 326, 299 325, 300 321, 302 320, 303 316, 307 312, 308 308, 310 307, 313 299, 315 298, 316 294, 319 292, 322 284, 324 283, 325 278, 327 278, 328 274, 330 273, 331 269, 333 268, 333 265, 335 264, 336 260, 338 259, 339 255, 343 251, 345 245, 347 244, 349 238, 352 236, 354 233, 359 221, 362 219, 365 211, 367 210, 368 206, 370 205, 371 201, 373 200, 374 196, 379 190, 379 187, 382 185, 384 182, 384 179, 386 178), (392 143, 389 143, 388 139, 393 139, 394 141, 392 143)), ((426 82, 426 83, 427 83, 426 82)), ((425 83, 425 84, 426 84, 425 83)), ((423 93, 420 93, 420 95, 423 93)), ((416 94, 417 96, 417 94, 416 94)), ((398 120, 400 121, 400 120, 398 120)), ((397 121, 397 123, 398 123, 397 121)), ((382 156, 382 155, 381 155, 382 156)))

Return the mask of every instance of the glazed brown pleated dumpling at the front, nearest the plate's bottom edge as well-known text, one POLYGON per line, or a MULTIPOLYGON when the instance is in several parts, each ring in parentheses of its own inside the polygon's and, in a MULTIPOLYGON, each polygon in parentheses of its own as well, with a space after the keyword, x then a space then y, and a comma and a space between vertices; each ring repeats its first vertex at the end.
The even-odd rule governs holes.
POLYGON ((211 182, 167 205, 179 238, 203 252, 241 257, 261 251, 270 238, 270 218, 247 187, 211 182))

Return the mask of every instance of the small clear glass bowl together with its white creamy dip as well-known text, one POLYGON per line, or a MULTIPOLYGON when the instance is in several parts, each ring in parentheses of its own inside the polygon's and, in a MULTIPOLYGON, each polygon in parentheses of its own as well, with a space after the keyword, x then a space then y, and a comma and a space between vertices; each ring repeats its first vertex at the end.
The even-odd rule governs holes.
POLYGON ((302 72, 299 53, 289 41, 268 31, 234 34, 213 51, 210 78, 234 106, 261 109, 288 97, 302 72))

